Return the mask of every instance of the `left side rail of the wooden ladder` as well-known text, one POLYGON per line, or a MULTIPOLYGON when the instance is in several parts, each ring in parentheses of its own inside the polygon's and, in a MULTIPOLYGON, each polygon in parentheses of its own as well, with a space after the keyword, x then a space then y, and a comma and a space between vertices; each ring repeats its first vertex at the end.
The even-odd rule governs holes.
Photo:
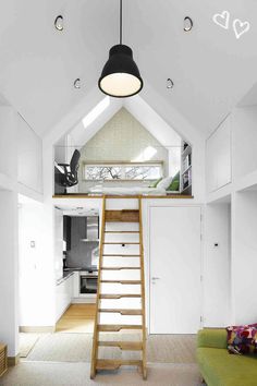
POLYGON ((95 326, 93 336, 93 348, 91 348, 91 369, 90 378, 94 379, 96 376, 96 364, 98 357, 98 321, 99 321, 99 304, 100 304, 100 286, 101 286, 101 267, 103 260, 103 248, 105 248, 105 228, 106 228, 106 196, 102 197, 102 215, 101 215, 101 238, 100 238, 100 250, 99 250, 99 266, 98 266, 98 282, 97 282, 97 299, 96 299, 96 313, 95 313, 95 326))

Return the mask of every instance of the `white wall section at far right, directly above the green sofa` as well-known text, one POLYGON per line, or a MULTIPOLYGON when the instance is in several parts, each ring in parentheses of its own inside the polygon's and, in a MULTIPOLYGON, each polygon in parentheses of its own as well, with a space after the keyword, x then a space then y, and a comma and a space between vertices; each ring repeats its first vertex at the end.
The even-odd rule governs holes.
POLYGON ((256 323, 257 191, 235 193, 232 198, 233 323, 256 323))

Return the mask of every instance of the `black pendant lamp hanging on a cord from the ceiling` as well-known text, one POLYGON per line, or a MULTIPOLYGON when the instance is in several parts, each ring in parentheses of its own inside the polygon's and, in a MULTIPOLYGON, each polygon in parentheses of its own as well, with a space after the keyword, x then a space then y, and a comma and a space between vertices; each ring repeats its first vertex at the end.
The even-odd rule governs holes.
POLYGON ((100 91, 115 98, 125 98, 139 93, 143 80, 133 60, 133 51, 122 44, 122 0, 120 0, 120 44, 109 52, 109 60, 103 67, 98 81, 100 91))

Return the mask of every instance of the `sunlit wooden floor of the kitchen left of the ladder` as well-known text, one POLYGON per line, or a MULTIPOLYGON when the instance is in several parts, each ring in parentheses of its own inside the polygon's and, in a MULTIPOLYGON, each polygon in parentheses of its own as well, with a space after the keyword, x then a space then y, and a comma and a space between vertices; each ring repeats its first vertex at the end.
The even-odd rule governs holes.
POLYGON ((58 321, 57 333, 93 333, 96 304, 71 304, 58 321))

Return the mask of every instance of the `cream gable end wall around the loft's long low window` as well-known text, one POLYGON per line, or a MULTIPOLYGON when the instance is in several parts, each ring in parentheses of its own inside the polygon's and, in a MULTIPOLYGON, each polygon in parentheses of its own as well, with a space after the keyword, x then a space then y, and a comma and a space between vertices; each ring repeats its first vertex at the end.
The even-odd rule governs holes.
MULTIPOLYGON (((84 147, 81 148, 79 192, 99 183, 85 181, 83 177, 84 161, 130 161, 162 160, 163 172, 168 174, 169 153, 126 109, 122 108, 99 130, 84 147), (155 155, 147 158, 147 148, 154 148, 155 155)), ((105 182, 112 185, 115 182, 105 182)), ((123 182, 124 183, 124 182, 123 182)), ((122 183, 119 183, 121 185, 122 183)), ((130 182, 125 182, 130 184, 130 182)), ((135 185, 135 182, 131 182, 135 185)), ((136 182, 138 184, 138 182, 136 182)))

